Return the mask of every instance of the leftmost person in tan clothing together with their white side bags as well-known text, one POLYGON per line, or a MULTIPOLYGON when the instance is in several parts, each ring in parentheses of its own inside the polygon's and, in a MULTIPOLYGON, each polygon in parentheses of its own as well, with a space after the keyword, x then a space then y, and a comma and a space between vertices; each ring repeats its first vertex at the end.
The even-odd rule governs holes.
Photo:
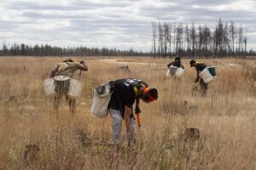
POLYGON ((55 65, 50 71, 49 79, 44 81, 45 94, 55 94, 54 111, 58 111, 61 98, 64 95, 67 99, 69 110, 74 114, 76 111, 76 98, 82 92, 83 84, 73 79, 76 71, 88 71, 84 60, 74 62, 73 59, 66 59, 55 65))

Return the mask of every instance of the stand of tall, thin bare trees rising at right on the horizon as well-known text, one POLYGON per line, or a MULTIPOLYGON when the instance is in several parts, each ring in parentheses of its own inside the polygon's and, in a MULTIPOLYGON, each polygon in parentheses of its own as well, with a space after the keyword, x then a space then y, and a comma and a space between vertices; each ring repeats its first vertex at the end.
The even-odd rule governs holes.
POLYGON ((247 52, 247 29, 221 19, 215 28, 207 25, 158 24, 152 22, 152 56, 226 57, 255 55, 247 52))

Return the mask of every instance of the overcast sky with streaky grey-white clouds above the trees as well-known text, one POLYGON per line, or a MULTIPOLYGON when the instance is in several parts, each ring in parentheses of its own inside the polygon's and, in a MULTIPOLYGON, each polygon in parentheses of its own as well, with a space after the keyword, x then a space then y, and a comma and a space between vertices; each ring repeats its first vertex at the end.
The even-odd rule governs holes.
MULTIPOLYGON (((247 28, 256 50, 255 0, 0 0, 1 42, 151 49, 152 21, 247 28)), ((0 43, 1 44, 1 43, 0 43)))

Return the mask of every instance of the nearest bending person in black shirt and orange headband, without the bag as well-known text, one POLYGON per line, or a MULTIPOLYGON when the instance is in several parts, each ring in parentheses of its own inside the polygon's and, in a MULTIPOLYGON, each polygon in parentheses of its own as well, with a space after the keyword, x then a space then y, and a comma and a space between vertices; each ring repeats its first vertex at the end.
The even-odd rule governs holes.
MULTIPOLYGON (((137 79, 119 79, 110 82, 113 89, 108 109, 112 117, 112 137, 113 144, 119 144, 121 136, 122 120, 125 121, 128 144, 135 142, 136 121, 133 115, 133 104, 136 103, 135 114, 141 112, 139 102, 142 99, 145 103, 150 103, 158 98, 156 88, 148 87, 146 82, 137 79)), ((139 119, 138 126, 140 126, 139 119)))

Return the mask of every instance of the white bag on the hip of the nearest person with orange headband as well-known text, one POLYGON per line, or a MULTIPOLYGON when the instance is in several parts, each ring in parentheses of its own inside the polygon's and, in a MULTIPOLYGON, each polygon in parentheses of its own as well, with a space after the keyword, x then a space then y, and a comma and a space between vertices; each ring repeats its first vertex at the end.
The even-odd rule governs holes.
POLYGON ((98 118, 108 116, 108 104, 111 94, 112 92, 108 82, 102 83, 95 88, 93 103, 90 108, 92 115, 98 118))

